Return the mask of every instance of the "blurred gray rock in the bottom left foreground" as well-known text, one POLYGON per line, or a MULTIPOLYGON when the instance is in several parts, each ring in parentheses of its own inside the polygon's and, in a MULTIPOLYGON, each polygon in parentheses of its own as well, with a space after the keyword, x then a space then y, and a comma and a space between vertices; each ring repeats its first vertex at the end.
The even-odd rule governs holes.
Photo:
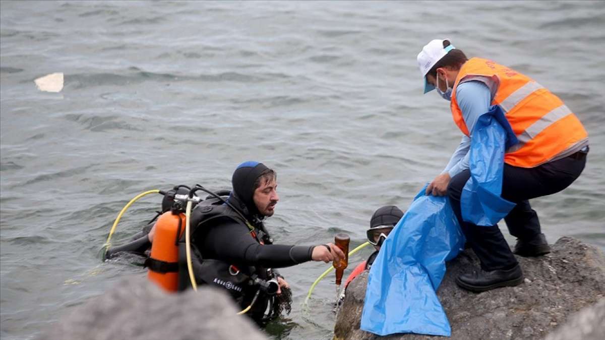
POLYGON ((168 294, 129 277, 60 319, 41 340, 266 340, 226 293, 209 287, 168 294))

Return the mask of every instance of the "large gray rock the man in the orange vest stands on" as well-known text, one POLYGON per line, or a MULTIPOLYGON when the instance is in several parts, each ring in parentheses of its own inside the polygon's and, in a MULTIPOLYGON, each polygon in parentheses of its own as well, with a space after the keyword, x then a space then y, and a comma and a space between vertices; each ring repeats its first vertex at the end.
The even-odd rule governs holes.
MULTIPOLYGON (((572 313, 605 296, 605 255, 574 238, 560 238, 544 257, 517 260, 525 283, 483 293, 467 292, 454 281, 460 274, 479 268, 472 250, 465 250, 447 264, 437 295, 450 320, 451 339, 544 338, 572 313)), ((335 339, 381 338, 359 330, 366 284, 367 272, 347 288, 336 318, 335 339)), ((384 338, 443 339, 415 334, 384 338)))

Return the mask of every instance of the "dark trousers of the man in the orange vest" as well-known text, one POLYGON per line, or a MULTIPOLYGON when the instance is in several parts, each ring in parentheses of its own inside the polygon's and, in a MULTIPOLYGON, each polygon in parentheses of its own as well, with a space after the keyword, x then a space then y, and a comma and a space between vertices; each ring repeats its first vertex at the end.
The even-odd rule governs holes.
MULTIPOLYGON (((540 234, 540 221, 529 199, 559 192, 580 176, 586 165, 586 152, 577 152, 535 168, 504 165, 502 198, 517 203, 504 218, 509 232, 520 240, 531 240, 540 234)), ((448 196, 466 241, 477 254, 483 270, 511 269, 517 260, 506 243, 498 225, 477 226, 462 221, 460 195, 471 173, 468 169, 455 175, 448 185, 448 196)))

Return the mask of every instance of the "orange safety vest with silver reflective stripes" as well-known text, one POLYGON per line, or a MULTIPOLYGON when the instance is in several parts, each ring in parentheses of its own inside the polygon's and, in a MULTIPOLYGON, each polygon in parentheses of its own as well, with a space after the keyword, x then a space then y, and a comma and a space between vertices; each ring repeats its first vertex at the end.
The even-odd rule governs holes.
POLYGON ((460 83, 479 80, 500 105, 519 143, 506 150, 504 162, 534 168, 574 148, 588 138, 584 126, 557 96, 528 76, 488 59, 471 58, 458 73, 451 96, 456 125, 470 137, 456 101, 460 83))

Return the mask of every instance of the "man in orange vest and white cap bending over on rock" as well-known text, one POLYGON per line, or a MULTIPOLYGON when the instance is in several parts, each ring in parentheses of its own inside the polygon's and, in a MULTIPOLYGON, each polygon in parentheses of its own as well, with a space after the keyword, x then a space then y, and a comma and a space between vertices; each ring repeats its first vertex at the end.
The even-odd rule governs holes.
POLYGON ((424 93, 437 89, 464 134, 450 163, 426 191, 448 195, 466 241, 481 263, 481 270, 460 275, 456 283, 473 292, 517 286, 523 283, 523 272, 513 254, 534 257, 550 252, 529 200, 559 192, 580 176, 589 151, 586 129, 561 99, 535 80, 492 60, 468 59, 448 39, 429 42, 417 61, 424 93), (482 154, 477 162, 503 163, 501 197, 515 204, 504 218, 517 237, 512 252, 497 224, 479 226, 462 218, 462 192, 471 178, 470 150, 477 122, 496 105, 506 120, 497 126, 502 131, 508 126, 519 143, 504 155, 482 154))

